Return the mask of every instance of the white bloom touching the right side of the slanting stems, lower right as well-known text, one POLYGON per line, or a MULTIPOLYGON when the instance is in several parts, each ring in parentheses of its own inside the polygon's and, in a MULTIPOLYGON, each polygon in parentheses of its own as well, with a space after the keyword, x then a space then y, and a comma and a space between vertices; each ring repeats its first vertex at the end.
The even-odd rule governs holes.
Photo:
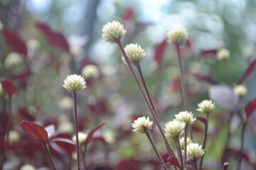
POLYGON ((165 134, 169 139, 174 137, 179 137, 183 134, 185 128, 185 123, 178 120, 172 120, 165 124, 165 134))

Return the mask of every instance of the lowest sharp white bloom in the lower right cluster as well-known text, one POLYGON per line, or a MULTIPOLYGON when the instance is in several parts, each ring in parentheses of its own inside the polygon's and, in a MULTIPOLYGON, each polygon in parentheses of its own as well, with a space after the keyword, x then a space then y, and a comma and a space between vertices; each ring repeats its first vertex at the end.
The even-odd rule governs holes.
POLYGON ((189 162, 194 160, 198 161, 203 157, 203 153, 204 150, 198 143, 190 143, 187 145, 187 158, 189 159, 189 162))

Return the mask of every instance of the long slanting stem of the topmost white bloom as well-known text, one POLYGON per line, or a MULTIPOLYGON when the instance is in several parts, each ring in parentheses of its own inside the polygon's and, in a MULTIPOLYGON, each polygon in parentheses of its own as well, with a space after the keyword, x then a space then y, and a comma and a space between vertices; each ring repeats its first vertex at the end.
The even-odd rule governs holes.
POLYGON ((161 123, 158 120, 158 116, 156 115, 156 113, 154 113, 153 109, 151 108, 149 101, 146 98, 146 94, 145 94, 144 90, 142 89, 142 85, 139 83, 139 79, 138 79, 137 75, 135 74, 134 69, 132 68, 132 64, 129 62, 129 59, 127 57, 126 52, 124 51, 124 47, 122 45, 121 40, 118 38, 116 42, 122 52, 122 55, 124 56, 124 60, 127 62, 127 65, 129 67, 130 72, 132 73, 132 76, 134 77, 134 80, 136 81, 137 85, 139 86, 139 91, 141 92, 144 100, 146 101, 146 105, 148 106, 151 115, 153 116, 154 120, 156 121, 156 125, 159 128, 162 137, 164 138, 164 143, 166 145, 166 148, 167 148, 170 156, 176 157, 174 154, 174 150, 171 149, 171 145, 169 144, 166 136, 164 135, 164 130, 163 130, 163 128, 161 128, 161 123))

